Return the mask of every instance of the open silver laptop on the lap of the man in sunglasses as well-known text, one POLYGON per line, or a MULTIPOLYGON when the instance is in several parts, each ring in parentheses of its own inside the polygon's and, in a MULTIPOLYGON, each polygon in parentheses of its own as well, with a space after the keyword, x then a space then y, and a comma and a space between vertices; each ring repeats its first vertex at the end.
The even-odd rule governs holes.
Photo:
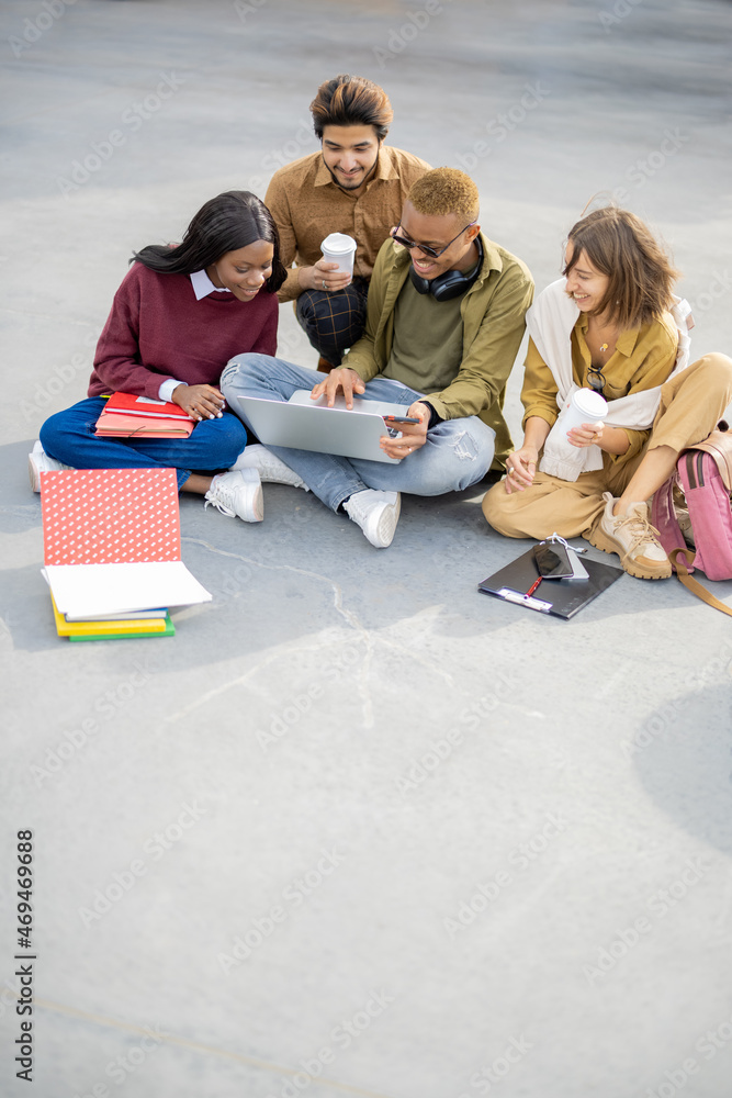
POLYGON ((353 394, 353 407, 349 412, 341 395, 329 408, 325 396, 312 401, 309 389, 299 389, 289 401, 259 396, 236 399, 244 422, 264 446, 288 446, 391 464, 398 462, 397 458, 386 457, 379 439, 390 435, 383 416, 406 415, 408 405, 367 401, 353 394))

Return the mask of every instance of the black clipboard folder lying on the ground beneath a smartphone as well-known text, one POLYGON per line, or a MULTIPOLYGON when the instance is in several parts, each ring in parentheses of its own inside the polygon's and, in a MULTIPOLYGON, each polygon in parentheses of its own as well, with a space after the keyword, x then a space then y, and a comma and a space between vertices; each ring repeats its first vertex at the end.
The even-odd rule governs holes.
POLYGON ((596 560, 582 558, 587 569, 586 580, 542 580, 533 595, 523 594, 539 579, 532 549, 527 550, 517 560, 489 575, 477 590, 486 595, 495 595, 507 603, 516 603, 541 614, 553 614, 565 620, 574 617, 587 603, 619 580, 623 574, 621 568, 612 564, 601 564, 596 560))

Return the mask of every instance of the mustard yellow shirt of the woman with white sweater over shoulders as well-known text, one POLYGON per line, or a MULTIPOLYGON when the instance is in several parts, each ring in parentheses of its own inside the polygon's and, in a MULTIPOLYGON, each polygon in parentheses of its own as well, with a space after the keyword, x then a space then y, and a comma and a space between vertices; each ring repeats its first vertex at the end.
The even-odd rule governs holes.
MULTIPOLYGON (((671 313, 664 313, 657 321, 640 328, 621 332, 613 355, 603 367, 606 380, 603 395, 606 401, 617 401, 630 393, 662 385, 674 369, 678 348, 678 329, 671 313)), ((572 329, 572 378, 576 385, 590 389, 587 371, 592 356, 587 346, 587 315, 581 313, 572 329)), ((523 427, 530 416, 539 416, 553 426, 559 415, 556 404, 556 382, 533 339, 529 339, 526 356, 526 373, 521 389, 523 404, 523 427)), ((610 455, 611 461, 628 461, 639 453, 651 434, 649 430, 622 428, 630 446, 624 453, 610 455)))

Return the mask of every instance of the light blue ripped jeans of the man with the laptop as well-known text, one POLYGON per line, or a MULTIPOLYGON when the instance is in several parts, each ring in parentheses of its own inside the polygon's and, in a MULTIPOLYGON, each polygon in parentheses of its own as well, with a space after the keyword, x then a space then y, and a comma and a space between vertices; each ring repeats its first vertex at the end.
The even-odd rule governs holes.
MULTIPOLYGON (((221 391, 232 411, 241 414, 236 396, 286 401, 295 390, 312 389, 323 380, 323 374, 315 370, 306 370, 269 355, 248 354, 238 355, 228 362, 222 373, 221 391)), ((390 401, 403 404, 405 408, 421 395, 387 378, 369 381, 363 394, 367 400, 390 401)), ((427 433, 425 446, 403 458, 398 464, 283 446, 270 446, 268 449, 294 469, 318 500, 331 511, 338 511, 349 496, 370 488, 385 492, 410 492, 413 495, 461 492, 485 477, 493 461, 494 440, 492 427, 477 416, 468 416, 436 424, 427 433)))

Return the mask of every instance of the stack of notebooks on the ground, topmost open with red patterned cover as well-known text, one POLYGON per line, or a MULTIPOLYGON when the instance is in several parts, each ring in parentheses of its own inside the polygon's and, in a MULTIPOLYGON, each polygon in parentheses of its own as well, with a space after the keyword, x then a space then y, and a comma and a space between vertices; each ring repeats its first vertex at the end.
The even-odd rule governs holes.
POLYGON ((41 478, 43 574, 59 637, 170 637, 169 607, 211 600, 180 559, 173 469, 41 478))

